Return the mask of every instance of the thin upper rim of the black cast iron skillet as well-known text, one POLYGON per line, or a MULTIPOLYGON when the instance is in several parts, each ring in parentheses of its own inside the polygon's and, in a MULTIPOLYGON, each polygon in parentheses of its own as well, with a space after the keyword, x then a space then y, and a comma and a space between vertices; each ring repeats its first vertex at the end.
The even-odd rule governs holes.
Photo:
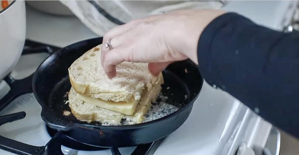
MULTIPOLYGON (((156 123, 156 122, 159 122, 161 120, 164 120, 164 119, 170 119, 171 117, 175 117, 177 115, 179 115, 180 113, 184 112, 185 109, 189 108, 189 106, 193 105, 193 103, 196 101, 196 99, 198 98, 199 94, 201 93, 202 91, 202 86, 203 86, 203 83, 204 83, 204 78, 202 77, 202 75, 200 74, 199 70, 199 75, 201 76, 201 85, 200 85, 200 88, 199 88, 199 92, 196 93, 196 96, 194 96, 194 98, 192 100, 190 100, 186 106, 184 106, 183 108, 180 108, 179 110, 175 111, 174 113, 171 113, 167 116, 164 116, 164 117, 161 117, 159 119, 155 119, 155 120, 152 120, 152 121, 149 121, 149 122, 144 122, 144 123, 139 123, 139 124, 133 124, 133 125, 115 125, 115 126, 109 126, 109 125, 91 125, 91 124, 86 124, 87 122, 74 122, 72 124, 67 124, 65 126, 62 126, 62 125, 58 125, 58 124, 54 124, 52 122, 49 122, 47 119, 45 119, 45 116, 43 115, 43 113, 45 113, 46 110, 50 110, 51 108, 45 106, 46 103, 44 101, 42 101, 42 99, 40 99, 40 97, 38 96, 38 93, 36 91, 36 86, 35 86, 35 81, 37 79, 37 71, 41 68, 42 65, 46 65, 45 62, 46 61, 49 61, 49 59, 52 57, 52 56, 56 56, 58 53, 60 54, 63 54, 62 52, 64 50, 68 50, 68 47, 70 46, 74 46, 76 44, 79 44, 80 42, 88 42, 89 40, 103 40, 103 37, 95 37, 95 38, 90 38, 90 39, 85 39, 85 40, 81 40, 81 41, 78 41, 78 42, 75 42, 75 43, 72 43, 72 44, 69 44, 65 47, 62 47, 60 50, 57 50, 56 52, 52 53, 50 56, 48 56, 44 61, 42 61, 42 63, 36 68, 36 71, 34 72, 34 75, 33 75, 33 79, 32 79, 32 90, 33 90, 33 94, 34 94, 34 97, 36 98, 37 102, 39 103, 39 105, 42 107, 42 111, 41 111, 41 117, 42 117, 42 120, 49 126, 49 127, 55 127, 55 128, 59 128, 63 131, 69 131, 73 128, 77 128, 77 127, 81 127, 81 128, 86 128, 86 127, 89 127, 89 128, 98 128, 98 129, 113 129, 113 130, 129 130, 129 129, 136 129, 136 128, 141 128, 141 127, 146 127, 148 125, 151 125, 153 123, 156 123)), ((186 60, 183 60, 183 61, 188 61, 187 59, 186 60)), ((198 66, 191 61, 190 63, 191 67, 196 67, 198 68, 198 66)))

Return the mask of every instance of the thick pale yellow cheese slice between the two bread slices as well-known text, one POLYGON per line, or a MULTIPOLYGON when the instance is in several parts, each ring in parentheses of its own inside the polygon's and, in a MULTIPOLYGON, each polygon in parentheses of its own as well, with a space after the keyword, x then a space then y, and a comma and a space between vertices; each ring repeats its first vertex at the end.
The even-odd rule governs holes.
POLYGON ((95 99, 92 98, 91 96, 83 96, 80 94, 77 94, 77 98, 84 102, 96 105, 98 107, 112 110, 112 111, 117 111, 120 113, 124 113, 126 115, 132 115, 134 113, 139 101, 139 100, 134 100, 133 102, 104 101, 102 99, 95 99))

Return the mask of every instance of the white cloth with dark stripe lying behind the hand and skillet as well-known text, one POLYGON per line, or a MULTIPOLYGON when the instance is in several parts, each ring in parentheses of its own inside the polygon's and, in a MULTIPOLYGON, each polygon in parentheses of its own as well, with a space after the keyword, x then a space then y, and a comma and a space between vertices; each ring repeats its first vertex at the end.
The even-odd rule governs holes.
MULTIPOLYGON (((103 36, 117 26, 88 1, 60 1, 94 33, 103 36)), ((127 23, 133 19, 179 9, 219 9, 221 1, 94 1, 114 18, 127 23)))

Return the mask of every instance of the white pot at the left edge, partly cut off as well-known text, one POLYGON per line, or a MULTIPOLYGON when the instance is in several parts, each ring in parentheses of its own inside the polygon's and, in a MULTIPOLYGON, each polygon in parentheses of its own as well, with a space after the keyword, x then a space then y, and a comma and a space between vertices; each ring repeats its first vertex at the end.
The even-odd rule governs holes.
POLYGON ((25 35, 25 2, 12 1, 8 7, 0 11, 0 81, 18 62, 25 35))

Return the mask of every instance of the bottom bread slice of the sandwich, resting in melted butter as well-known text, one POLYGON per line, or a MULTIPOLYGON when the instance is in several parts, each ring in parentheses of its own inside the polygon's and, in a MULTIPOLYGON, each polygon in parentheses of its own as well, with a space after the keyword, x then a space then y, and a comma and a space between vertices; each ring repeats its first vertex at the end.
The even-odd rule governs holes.
POLYGON ((151 102, 155 102, 161 92, 162 80, 151 86, 147 86, 142 93, 141 99, 133 115, 125 115, 116 111, 107 110, 96 105, 84 102, 77 98, 76 91, 71 88, 68 95, 68 103, 73 115, 84 122, 102 122, 105 125, 120 125, 121 119, 126 119, 127 124, 138 124, 144 119, 144 114, 151 107, 151 102))

